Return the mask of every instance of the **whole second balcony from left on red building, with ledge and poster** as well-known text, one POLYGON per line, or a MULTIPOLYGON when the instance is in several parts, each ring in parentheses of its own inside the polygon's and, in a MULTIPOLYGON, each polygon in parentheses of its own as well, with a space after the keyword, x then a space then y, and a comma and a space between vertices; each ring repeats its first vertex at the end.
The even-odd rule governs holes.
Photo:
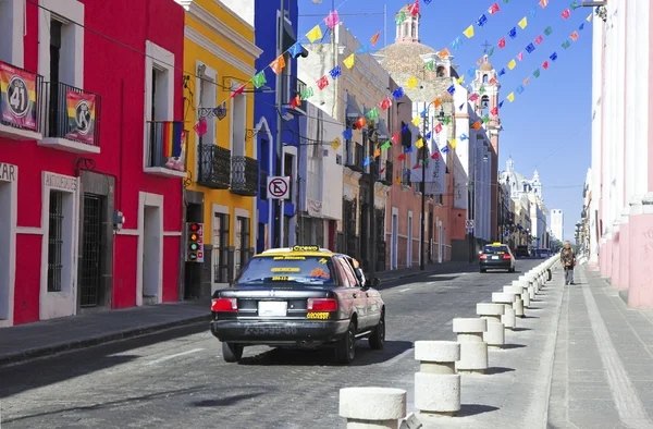
POLYGON ((44 83, 41 117, 44 138, 39 146, 74 154, 100 152, 102 99, 61 82, 44 83))

